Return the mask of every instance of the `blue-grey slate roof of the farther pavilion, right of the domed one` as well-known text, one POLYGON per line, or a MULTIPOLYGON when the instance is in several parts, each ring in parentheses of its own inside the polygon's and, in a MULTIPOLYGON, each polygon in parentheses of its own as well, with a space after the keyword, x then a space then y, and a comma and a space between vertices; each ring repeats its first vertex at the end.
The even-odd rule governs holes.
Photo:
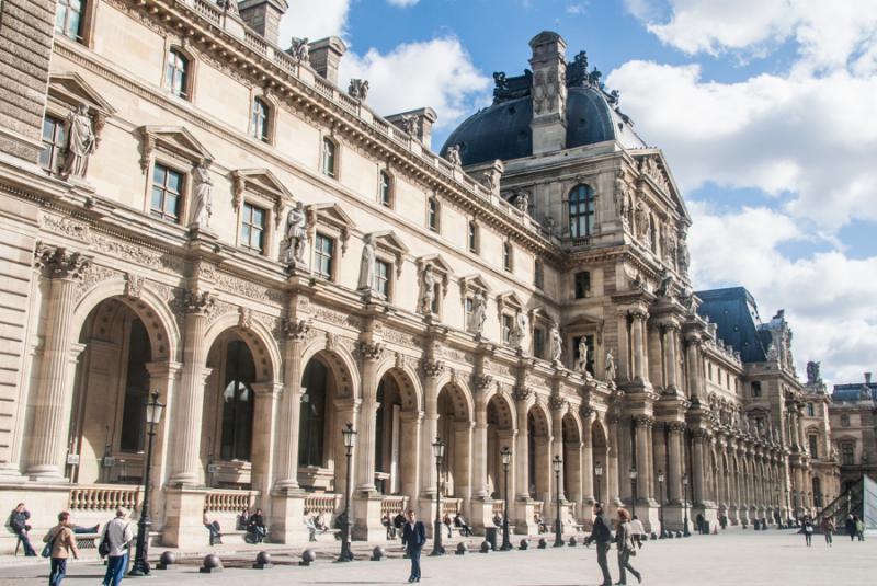
POLYGON ((697 313, 718 326, 718 337, 739 352, 743 363, 763 363, 766 359, 765 348, 771 333, 758 330, 761 322, 759 309, 744 287, 696 291, 695 295, 703 301, 697 313))

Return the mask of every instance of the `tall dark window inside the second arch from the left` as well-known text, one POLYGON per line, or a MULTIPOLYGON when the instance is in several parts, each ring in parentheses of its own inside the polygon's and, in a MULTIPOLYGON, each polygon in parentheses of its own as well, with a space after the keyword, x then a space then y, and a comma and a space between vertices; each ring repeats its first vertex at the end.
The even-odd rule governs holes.
POLYGON ((232 340, 226 348, 225 386, 223 390, 224 460, 249 460, 253 427, 253 390, 255 363, 242 340, 232 340))

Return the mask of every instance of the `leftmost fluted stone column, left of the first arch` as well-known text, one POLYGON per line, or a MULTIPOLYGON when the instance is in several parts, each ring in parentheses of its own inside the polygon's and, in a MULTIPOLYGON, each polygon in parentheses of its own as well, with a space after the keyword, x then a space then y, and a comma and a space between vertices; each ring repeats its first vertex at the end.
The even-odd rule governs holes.
POLYGON ((33 425, 26 474, 31 478, 64 478, 72 409, 73 365, 81 347, 71 356, 78 332, 72 332, 77 285, 91 260, 64 248, 39 245, 36 267, 48 279, 43 301, 45 329, 36 392, 31 400, 33 425), (71 364, 72 361, 72 364, 71 364))

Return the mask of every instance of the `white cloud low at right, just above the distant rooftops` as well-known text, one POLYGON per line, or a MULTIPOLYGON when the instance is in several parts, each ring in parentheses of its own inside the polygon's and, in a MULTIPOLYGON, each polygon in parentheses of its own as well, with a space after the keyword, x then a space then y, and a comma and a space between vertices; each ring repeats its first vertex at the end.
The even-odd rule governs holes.
POLYGON ((799 372, 820 360, 833 382, 859 380, 877 368, 877 257, 848 258, 820 252, 796 261, 777 248, 807 239, 793 218, 767 208, 720 214, 692 203, 692 276, 697 288, 742 285, 755 297, 762 320, 785 309, 795 333, 799 372))

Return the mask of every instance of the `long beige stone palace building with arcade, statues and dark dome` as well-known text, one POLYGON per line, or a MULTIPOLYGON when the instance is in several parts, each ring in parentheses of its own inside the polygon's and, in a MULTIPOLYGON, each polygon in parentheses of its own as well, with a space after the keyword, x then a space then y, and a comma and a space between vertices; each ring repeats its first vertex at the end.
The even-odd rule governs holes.
POLYGON ((477 530, 558 487, 656 529, 812 506, 787 325, 752 363, 698 310, 672 173, 583 53, 534 37, 438 156, 431 108, 338 88, 341 39, 281 48, 284 10, 2 3, 0 508, 136 505, 151 390, 169 545, 247 506, 300 540, 349 474, 360 539, 436 486, 477 530))

